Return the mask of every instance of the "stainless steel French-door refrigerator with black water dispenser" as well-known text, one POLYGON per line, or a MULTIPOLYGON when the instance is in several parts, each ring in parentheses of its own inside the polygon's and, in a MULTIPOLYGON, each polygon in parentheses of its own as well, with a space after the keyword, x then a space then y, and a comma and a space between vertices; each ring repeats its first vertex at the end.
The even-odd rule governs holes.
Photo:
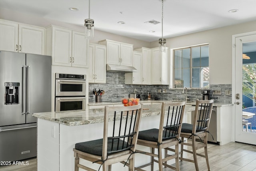
POLYGON ((0 161, 36 157, 36 118, 51 111, 51 56, 0 51, 0 161))

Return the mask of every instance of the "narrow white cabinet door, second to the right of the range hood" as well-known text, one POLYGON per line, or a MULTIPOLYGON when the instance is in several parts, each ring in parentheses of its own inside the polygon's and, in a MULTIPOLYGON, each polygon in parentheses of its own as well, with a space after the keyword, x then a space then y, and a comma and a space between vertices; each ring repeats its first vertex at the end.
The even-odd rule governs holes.
POLYGON ((142 48, 142 84, 151 84, 151 50, 142 48))

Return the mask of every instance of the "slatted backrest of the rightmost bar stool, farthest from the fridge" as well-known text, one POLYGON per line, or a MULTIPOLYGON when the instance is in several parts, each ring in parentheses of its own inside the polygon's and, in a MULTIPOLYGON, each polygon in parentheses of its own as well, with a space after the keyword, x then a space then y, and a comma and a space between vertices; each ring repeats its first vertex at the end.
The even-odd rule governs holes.
POLYGON ((214 100, 196 100, 192 133, 208 131, 214 100))

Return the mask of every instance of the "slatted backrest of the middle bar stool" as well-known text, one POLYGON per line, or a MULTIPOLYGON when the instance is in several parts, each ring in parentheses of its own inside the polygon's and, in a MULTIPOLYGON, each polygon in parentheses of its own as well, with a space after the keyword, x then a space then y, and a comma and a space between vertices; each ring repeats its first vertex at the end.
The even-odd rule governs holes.
POLYGON ((179 138, 186 102, 163 102, 158 133, 158 143, 179 138))

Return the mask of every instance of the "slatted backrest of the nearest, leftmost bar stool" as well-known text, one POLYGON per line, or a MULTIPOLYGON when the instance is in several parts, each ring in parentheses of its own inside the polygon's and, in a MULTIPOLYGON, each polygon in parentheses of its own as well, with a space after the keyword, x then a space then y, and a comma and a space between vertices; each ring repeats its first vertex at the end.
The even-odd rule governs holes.
POLYGON ((135 151, 141 111, 142 104, 122 107, 105 106, 103 159, 106 159, 107 155, 120 151, 135 151), (109 125, 109 121, 113 121, 113 125, 109 125))

